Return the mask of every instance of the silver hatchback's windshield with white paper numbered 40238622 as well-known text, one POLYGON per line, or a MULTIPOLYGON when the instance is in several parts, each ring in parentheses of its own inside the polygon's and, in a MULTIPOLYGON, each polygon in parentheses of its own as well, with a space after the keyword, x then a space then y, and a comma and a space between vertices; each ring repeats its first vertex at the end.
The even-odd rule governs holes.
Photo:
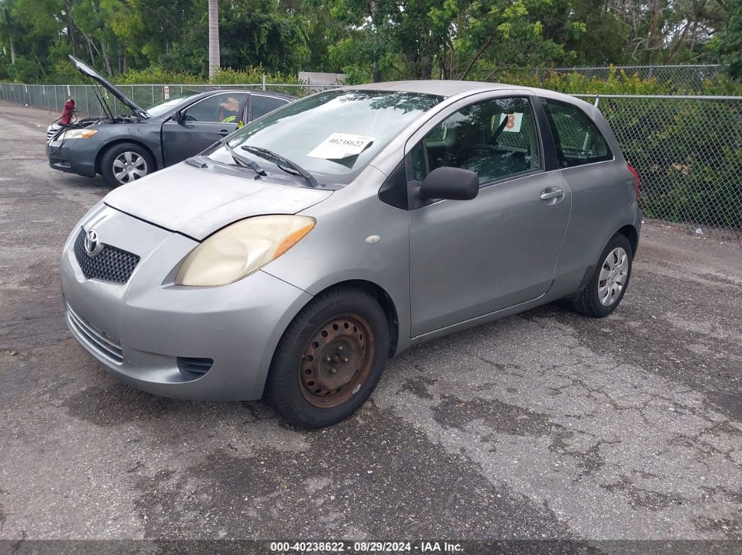
MULTIPOLYGON (((280 168, 280 162, 242 147, 271 150, 318 182, 347 185, 404 127, 441 100, 441 96, 399 91, 331 90, 287 104, 243 127, 229 138, 229 146, 257 159, 267 170, 280 168)), ((220 143, 204 154, 234 164, 220 143)))

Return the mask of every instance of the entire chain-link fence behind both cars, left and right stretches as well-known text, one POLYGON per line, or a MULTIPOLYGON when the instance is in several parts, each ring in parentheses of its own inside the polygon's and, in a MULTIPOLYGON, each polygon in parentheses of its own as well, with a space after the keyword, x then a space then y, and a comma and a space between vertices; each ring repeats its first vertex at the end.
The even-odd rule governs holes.
MULTIPOLYGON (((333 86, 119 85, 145 107, 162 101, 165 87, 169 95, 242 88, 301 97, 333 86)), ((56 113, 70 96, 83 115, 102 115, 91 85, 0 84, 1 99, 56 113)), ((575 96, 596 104, 611 124, 641 176, 640 204, 647 219, 742 234, 742 96, 575 96)), ((127 111, 112 97, 107 102, 114 112, 127 111)))

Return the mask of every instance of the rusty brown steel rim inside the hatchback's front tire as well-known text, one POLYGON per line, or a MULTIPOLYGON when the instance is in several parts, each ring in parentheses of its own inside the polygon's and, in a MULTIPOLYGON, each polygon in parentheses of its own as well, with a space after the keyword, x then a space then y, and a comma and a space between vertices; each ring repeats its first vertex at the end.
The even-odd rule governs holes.
POLYGON ((299 382, 315 407, 342 405, 367 381, 375 356, 375 337, 366 319, 343 314, 327 320, 303 350, 299 382))

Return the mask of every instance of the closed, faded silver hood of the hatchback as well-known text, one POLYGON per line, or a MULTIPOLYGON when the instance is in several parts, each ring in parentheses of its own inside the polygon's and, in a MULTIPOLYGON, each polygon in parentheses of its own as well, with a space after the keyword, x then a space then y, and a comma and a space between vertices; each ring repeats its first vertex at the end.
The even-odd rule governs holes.
POLYGON ((250 216, 295 214, 332 194, 269 179, 246 179, 181 162, 111 191, 117 210, 200 241, 250 216))

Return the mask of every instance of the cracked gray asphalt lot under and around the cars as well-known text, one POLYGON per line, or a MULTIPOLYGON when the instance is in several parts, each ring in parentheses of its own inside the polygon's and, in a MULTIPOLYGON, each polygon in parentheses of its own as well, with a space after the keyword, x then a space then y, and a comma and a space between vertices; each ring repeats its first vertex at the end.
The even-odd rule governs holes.
POLYGON ((742 539, 742 246, 646 225, 608 319, 548 305, 407 350, 322 431, 162 399, 70 337, 107 193, 0 102, 0 539, 742 539))

